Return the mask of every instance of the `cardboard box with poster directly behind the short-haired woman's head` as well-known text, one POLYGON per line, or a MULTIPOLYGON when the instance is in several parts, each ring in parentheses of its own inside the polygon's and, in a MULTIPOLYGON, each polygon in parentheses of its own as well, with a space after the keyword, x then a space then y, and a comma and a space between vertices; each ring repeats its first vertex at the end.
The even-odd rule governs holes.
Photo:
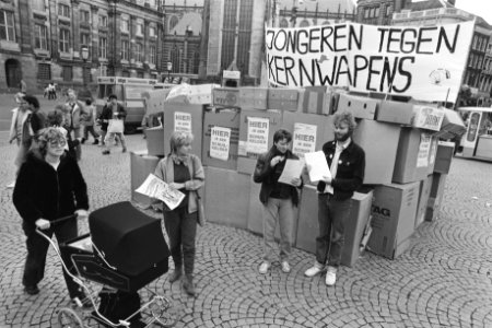
POLYGON ((164 112, 164 154, 171 152, 171 136, 177 130, 188 130, 191 127, 194 141, 191 153, 201 155, 201 139, 203 136, 203 105, 192 105, 185 103, 167 103, 164 112), (191 122, 189 122, 191 120, 191 122))

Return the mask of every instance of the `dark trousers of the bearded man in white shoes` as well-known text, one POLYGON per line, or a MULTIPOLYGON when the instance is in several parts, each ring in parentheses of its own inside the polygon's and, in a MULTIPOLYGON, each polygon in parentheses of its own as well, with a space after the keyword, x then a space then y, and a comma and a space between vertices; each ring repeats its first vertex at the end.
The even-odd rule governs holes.
POLYGON ((351 199, 335 200, 329 194, 318 195, 319 236, 316 238, 316 260, 338 268, 343 248, 345 221, 350 216, 351 199))

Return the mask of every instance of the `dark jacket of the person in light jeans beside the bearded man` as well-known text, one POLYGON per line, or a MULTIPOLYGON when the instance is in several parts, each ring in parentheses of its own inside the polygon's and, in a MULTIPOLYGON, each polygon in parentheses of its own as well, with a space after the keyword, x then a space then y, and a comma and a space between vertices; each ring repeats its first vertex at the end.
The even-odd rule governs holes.
MULTIPOLYGON (((260 154, 258 156, 258 161, 256 162, 255 172, 253 174, 253 180, 257 184, 261 184, 259 199, 262 203, 268 201, 270 194, 273 191, 276 184, 278 180, 273 176, 273 167, 271 167, 270 162, 276 156, 276 148, 274 145, 266 153, 260 154)), ((298 157, 293 154, 290 150, 285 152, 285 159, 289 160, 298 160, 298 157)), ((300 188, 302 188, 301 185, 300 188)), ((298 204, 298 192, 297 188, 294 186, 291 187, 292 195, 292 203, 294 206, 298 204)))

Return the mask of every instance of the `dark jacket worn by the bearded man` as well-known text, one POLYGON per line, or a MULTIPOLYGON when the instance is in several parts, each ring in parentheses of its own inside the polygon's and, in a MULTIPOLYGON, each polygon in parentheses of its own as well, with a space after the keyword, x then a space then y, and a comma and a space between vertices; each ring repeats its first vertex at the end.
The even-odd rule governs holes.
MULTIPOLYGON (((328 141, 323 145, 328 167, 331 167, 331 160, 333 159, 337 142, 328 141)), ((365 169, 365 153, 364 150, 354 143, 350 142, 349 147, 344 149, 338 162, 337 177, 332 179, 333 199, 345 200, 353 196, 353 192, 362 186, 364 180, 365 169)), ((317 189, 324 192, 326 187, 325 181, 319 181, 317 189)))

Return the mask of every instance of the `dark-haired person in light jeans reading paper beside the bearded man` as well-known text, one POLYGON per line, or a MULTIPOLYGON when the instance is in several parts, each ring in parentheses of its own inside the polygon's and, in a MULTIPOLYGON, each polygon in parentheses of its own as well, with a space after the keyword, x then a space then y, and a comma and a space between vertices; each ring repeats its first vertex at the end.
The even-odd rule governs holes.
POLYGON ((292 245, 294 207, 298 203, 297 188, 301 188, 303 185, 301 173, 304 166, 295 165, 295 163, 286 164, 288 161, 300 161, 289 149, 291 141, 291 132, 283 129, 278 130, 273 134, 272 148, 267 153, 259 155, 253 175, 254 181, 261 184, 259 199, 263 204, 265 254, 263 261, 258 269, 261 274, 268 272, 273 259, 277 220, 280 224, 280 262, 282 271, 285 273, 291 271, 289 255, 291 254, 292 245), (283 174, 285 169, 289 169, 289 174, 283 174), (282 179, 280 179, 281 177, 282 179))

